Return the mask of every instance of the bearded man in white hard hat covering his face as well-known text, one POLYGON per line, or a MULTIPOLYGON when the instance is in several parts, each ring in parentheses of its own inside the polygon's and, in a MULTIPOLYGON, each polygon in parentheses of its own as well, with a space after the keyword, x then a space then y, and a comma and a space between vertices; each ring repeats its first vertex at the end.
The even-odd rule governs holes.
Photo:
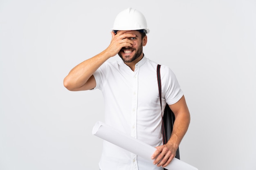
POLYGON ((104 141, 101 170, 163 170, 175 157, 189 127, 190 114, 180 85, 171 69, 162 65, 163 108, 167 103, 175 114, 171 138, 163 145, 157 63, 143 53, 148 32, 142 13, 131 8, 121 11, 108 48, 75 66, 64 79, 70 91, 100 89, 105 101, 105 123, 157 148, 152 161, 148 161, 104 141), (119 61, 107 61, 117 54, 119 61))

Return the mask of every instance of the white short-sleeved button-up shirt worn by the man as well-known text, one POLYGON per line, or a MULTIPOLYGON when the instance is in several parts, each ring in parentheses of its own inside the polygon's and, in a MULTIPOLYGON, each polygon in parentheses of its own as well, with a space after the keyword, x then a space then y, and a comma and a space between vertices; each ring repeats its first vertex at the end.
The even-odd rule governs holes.
MULTIPOLYGON (((162 114, 157 85, 157 63, 145 56, 132 71, 121 59, 105 62, 93 75, 104 98, 105 123, 150 146, 162 145, 162 114)), ((161 66, 162 108, 183 96, 177 79, 161 66)), ((150 155, 151 156, 151 155, 150 155)), ((101 170, 163 170, 108 141, 103 141, 101 170)))

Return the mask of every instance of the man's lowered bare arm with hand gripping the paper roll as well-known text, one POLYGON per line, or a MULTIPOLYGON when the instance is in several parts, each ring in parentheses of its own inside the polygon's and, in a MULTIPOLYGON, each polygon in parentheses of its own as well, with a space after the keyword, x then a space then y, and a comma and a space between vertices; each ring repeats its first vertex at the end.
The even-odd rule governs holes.
POLYGON ((152 159, 156 158, 153 163, 162 167, 166 167, 175 157, 176 150, 186 134, 190 123, 190 113, 184 96, 177 103, 169 105, 169 107, 175 115, 171 138, 167 144, 157 146, 157 150, 152 155, 152 159))

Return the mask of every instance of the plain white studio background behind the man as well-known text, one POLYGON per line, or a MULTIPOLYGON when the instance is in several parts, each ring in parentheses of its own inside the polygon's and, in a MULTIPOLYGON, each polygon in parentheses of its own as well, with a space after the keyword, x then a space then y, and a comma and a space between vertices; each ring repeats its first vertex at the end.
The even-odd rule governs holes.
POLYGON ((147 19, 146 57, 184 91, 181 160, 256 170, 255 0, 0 0, 0 170, 99 169, 101 92, 67 91, 63 78, 106 49, 127 7, 147 19))

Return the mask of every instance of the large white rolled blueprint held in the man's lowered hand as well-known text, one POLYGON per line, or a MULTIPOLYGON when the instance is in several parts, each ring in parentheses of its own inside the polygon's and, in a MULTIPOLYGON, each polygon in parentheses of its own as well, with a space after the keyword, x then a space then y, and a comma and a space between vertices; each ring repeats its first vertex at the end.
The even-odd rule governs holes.
MULTIPOLYGON (((92 135, 100 137, 103 140, 106 140, 148 160, 151 160, 151 156, 156 150, 156 148, 153 146, 150 146, 128 135, 124 135, 115 128, 112 128, 111 126, 108 126, 101 121, 96 122, 94 125, 92 129, 92 135)), ((197 168, 177 158, 173 158, 171 163, 169 163, 169 165, 164 168, 167 170, 198 170, 197 168)))

